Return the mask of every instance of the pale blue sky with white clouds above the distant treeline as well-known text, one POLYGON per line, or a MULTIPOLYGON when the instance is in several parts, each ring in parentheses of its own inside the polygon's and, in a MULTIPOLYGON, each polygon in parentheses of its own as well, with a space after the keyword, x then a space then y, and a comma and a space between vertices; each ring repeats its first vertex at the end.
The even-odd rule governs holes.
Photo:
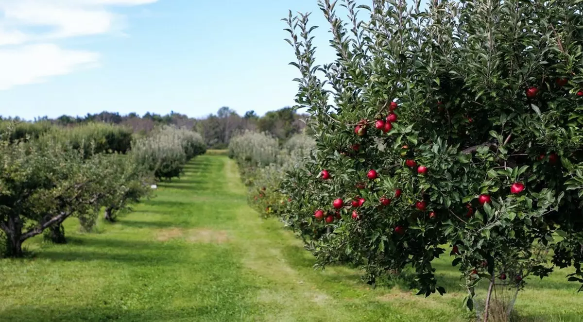
POLYGON ((0 115, 291 106, 288 9, 314 12, 317 56, 333 60, 316 0, 2 0, 0 115))

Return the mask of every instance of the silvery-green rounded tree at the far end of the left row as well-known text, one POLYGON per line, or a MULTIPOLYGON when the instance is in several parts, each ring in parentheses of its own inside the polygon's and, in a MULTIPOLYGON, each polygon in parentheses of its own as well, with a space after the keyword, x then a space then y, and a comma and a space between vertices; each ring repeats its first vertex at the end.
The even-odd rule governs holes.
POLYGON ((201 135, 174 127, 162 127, 151 136, 132 143, 131 155, 158 179, 180 176, 184 164, 206 152, 201 135))

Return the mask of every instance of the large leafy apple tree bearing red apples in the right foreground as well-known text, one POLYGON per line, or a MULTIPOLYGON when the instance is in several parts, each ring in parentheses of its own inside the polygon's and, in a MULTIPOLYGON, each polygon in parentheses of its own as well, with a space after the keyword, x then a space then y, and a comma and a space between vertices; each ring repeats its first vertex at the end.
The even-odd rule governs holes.
POLYGON ((341 216, 318 264, 348 254, 371 283, 410 265, 430 295, 445 291, 431 261, 449 244, 469 309, 483 279, 487 299, 554 267, 583 282, 583 3, 373 3, 363 22, 346 0, 344 23, 319 1, 338 53, 322 66, 308 15, 287 19, 317 141, 316 175, 290 177, 288 211, 298 226, 317 209, 341 216))

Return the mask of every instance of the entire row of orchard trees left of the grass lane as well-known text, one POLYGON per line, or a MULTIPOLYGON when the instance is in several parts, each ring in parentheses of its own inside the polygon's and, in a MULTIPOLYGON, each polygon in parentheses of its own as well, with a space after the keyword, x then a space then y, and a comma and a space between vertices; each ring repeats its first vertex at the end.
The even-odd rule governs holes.
POLYGON ((134 138, 106 124, 60 128, 47 123, 0 123, 0 252, 23 255, 38 234, 65 241, 62 223, 76 217, 92 230, 152 194, 156 180, 177 177, 189 159, 205 153, 200 135, 161 127, 134 138))

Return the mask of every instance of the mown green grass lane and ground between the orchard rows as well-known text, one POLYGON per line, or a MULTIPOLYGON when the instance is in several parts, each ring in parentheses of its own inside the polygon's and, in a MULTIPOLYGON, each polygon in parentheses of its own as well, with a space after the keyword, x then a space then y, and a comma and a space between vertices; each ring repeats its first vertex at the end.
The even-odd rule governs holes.
MULTIPOLYGON (((428 298, 371 289, 345 267, 314 271, 310 253, 275 219, 246 204, 236 164, 213 151, 157 197, 115 224, 69 243, 25 246, 0 260, 0 321, 468 321, 451 260, 436 262, 447 286, 428 298)), ((529 281, 524 321, 581 321, 583 294, 559 271, 529 281)))

